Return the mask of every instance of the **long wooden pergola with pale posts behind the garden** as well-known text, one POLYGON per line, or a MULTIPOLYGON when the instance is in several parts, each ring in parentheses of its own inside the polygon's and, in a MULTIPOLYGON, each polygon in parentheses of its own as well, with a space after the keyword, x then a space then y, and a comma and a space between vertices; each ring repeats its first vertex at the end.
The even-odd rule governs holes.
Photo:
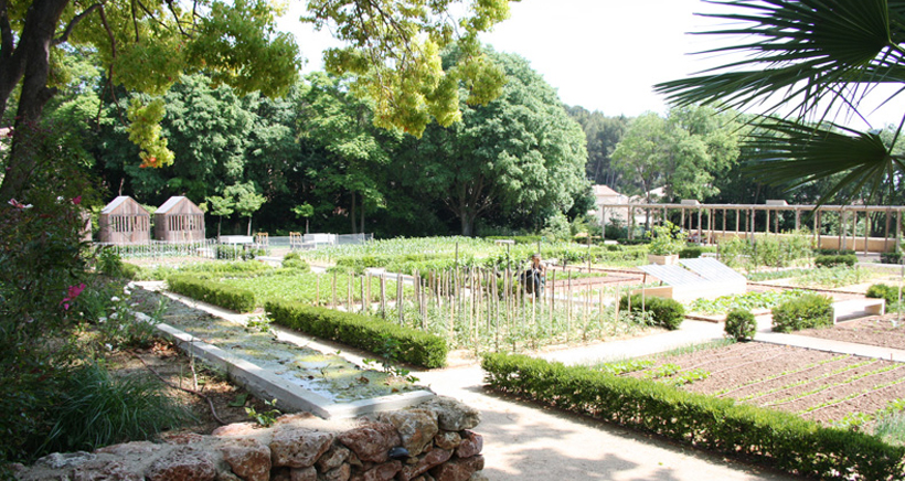
MULTIPOLYGON (((852 249, 863 253, 885 253, 896 250, 902 240, 902 212, 905 205, 802 205, 787 204, 786 201, 767 201, 766 204, 702 204, 698 201, 682 201, 679 204, 607 204, 606 209, 625 209, 629 223, 628 235, 632 238, 635 215, 645 213, 651 221, 670 218, 680 212, 680 225, 696 233, 703 242, 717 242, 725 237, 744 237, 750 242, 756 235, 784 235, 779 221, 784 213, 795 215, 795 228, 808 227, 812 231, 818 247, 852 249), (802 213, 806 214, 802 216, 802 213), (872 214, 883 214, 883 237, 870 237, 872 214), (658 215, 659 214, 659 215, 658 215), (839 218, 837 235, 821 234, 828 215, 839 218), (730 218, 734 222, 730 222, 730 218), (865 220, 863 236, 856 236, 859 218, 865 220), (764 220, 763 231, 757 231, 758 220, 764 220), (688 224, 688 225, 686 225, 688 224), (771 225, 773 224, 773 225, 771 225), (851 229, 850 229, 851 227, 851 229)), ((606 212, 604 213, 606 225, 606 212)))

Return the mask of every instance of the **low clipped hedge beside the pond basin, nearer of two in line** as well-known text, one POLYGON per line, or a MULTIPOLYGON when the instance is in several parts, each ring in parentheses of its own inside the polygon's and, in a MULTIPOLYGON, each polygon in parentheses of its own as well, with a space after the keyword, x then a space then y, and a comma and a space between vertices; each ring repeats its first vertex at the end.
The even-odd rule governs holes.
POLYGON ((446 365, 446 341, 383 319, 284 300, 266 302, 274 322, 318 338, 428 368, 446 365))

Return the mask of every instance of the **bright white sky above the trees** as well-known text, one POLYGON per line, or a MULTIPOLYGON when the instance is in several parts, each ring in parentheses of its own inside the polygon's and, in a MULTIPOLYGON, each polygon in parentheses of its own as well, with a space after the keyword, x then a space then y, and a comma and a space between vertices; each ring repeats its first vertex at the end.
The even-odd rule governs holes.
MULTIPOLYGON (((300 3, 294 3, 281 28, 296 35, 308 61, 307 73, 321 70, 322 50, 339 43, 329 32, 298 23, 300 3)), ((728 62, 725 56, 693 54, 726 44, 715 36, 689 34, 726 26, 720 23, 724 21, 695 15, 718 11, 701 0, 522 0, 510 9, 509 20, 481 40, 497 51, 528 58, 564 104, 607 116, 666 114, 664 98, 652 85, 728 62)), ((897 122, 903 110, 899 101, 870 119, 874 127, 897 122)), ((842 124, 862 127, 856 121, 842 124)))

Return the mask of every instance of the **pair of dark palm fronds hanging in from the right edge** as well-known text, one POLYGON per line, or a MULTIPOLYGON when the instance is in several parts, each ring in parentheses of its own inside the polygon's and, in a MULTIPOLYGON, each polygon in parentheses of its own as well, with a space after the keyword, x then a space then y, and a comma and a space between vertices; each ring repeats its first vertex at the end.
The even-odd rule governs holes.
POLYGON ((657 90, 678 105, 765 106, 754 120, 760 133, 752 136, 745 149, 755 161, 752 172, 762 181, 797 188, 839 175, 823 202, 843 192, 894 189, 893 179, 905 171, 905 157, 894 150, 905 116, 887 140, 880 129, 859 131, 831 119, 866 119, 862 106, 876 86, 891 87, 885 103, 905 92, 905 2, 714 3, 732 12, 706 17, 738 26, 703 33, 733 35, 738 43, 711 53, 744 56, 703 75, 659 84, 657 90))

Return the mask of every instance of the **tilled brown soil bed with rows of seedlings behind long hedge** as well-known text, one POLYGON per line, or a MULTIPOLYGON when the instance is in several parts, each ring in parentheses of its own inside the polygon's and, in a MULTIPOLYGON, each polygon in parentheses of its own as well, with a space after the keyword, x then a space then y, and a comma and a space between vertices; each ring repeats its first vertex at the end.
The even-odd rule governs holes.
POLYGON ((905 398, 905 364, 759 342, 656 357, 652 365, 625 375, 679 384, 691 372, 704 373, 704 378, 681 388, 822 424, 853 413, 873 414, 905 398), (678 372, 658 377, 657 372, 673 371, 668 364, 678 372))

